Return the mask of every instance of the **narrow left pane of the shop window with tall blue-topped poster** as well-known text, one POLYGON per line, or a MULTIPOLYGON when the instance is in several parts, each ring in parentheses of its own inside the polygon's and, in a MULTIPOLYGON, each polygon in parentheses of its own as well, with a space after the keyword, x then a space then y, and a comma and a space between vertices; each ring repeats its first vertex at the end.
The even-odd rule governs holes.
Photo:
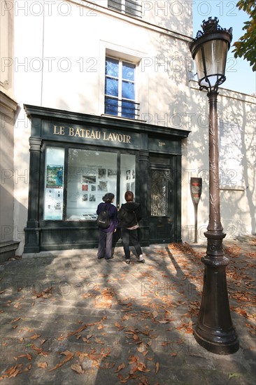
POLYGON ((62 220, 64 148, 46 148, 43 219, 62 220))

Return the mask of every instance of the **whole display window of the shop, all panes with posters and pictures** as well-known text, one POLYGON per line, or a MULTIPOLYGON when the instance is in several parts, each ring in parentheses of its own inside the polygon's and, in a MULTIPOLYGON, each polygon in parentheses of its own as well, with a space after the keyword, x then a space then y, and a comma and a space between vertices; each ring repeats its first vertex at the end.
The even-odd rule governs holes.
POLYGON ((117 207, 125 203, 127 190, 136 195, 136 155, 80 148, 67 154, 65 173, 65 149, 46 148, 44 220, 95 221, 106 193, 115 195, 117 207))

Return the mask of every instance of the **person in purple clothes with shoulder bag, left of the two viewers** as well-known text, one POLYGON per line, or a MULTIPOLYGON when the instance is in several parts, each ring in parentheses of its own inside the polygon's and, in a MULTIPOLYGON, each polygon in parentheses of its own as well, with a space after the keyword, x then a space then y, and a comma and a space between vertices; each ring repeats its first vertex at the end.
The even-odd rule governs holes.
POLYGON ((98 246, 98 259, 105 258, 106 260, 112 259, 112 241, 113 232, 116 231, 118 226, 118 210, 113 205, 115 195, 107 193, 102 197, 103 202, 97 207, 97 215, 106 207, 110 216, 110 222, 108 228, 99 228, 99 246, 98 246))

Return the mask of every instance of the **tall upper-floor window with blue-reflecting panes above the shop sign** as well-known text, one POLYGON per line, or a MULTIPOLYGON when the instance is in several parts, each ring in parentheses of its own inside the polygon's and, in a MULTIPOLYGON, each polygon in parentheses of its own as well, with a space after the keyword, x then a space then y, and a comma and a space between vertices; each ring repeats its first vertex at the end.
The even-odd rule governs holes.
POLYGON ((138 116, 135 70, 136 65, 133 63, 106 57, 105 113, 130 119, 138 116))

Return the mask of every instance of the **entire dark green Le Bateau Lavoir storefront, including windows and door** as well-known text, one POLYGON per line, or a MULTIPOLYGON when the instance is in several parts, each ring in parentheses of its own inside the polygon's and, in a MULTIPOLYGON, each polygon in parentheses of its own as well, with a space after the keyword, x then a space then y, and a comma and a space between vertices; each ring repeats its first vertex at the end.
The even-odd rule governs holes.
POLYGON ((96 248, 97 205, 108 192, 120 207, 127 190, 142 204, 142 246, 181 241, 181 141, 189 131, 24 108, 31 119, 24 253, 96 248))

